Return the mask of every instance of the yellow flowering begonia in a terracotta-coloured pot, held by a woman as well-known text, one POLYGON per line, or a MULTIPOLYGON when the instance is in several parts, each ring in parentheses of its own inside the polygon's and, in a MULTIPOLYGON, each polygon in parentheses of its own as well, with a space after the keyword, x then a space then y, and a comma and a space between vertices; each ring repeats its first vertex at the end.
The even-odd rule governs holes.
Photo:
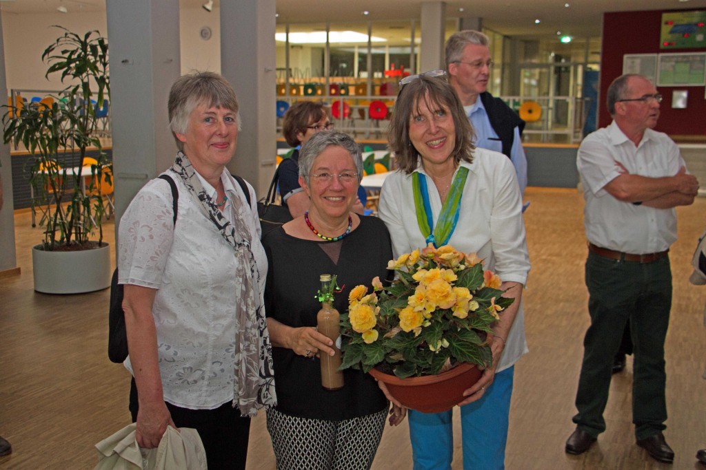
POLYGON ((388 268, 396 274, 389 286, 375 278, 373 292, 364 285, 350 292, 341 368, 370 372, 410 408, 449 409, 491 365, 491 328, 514 299, 502 297, 500 278, 476 254, 450 245, 403 254, 388 268), (457 385, 448 382, 456 377, 457 385), (441 390, 429 385, 438 381, 446 381, 441 390))

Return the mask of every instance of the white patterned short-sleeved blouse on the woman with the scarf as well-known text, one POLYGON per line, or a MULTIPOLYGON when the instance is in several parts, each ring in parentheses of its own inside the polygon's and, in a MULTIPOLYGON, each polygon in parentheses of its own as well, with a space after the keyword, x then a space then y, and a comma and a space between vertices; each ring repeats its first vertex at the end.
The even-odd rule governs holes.
MULTIPOLYGON (((239 282, 234 273, 239 259, 201 212, 184 181, 172 171, 165 173, 179 190, 177 224, 172 225, 169 184, 151 180, 120 221, 119 283, 157 290, 152 315, 164 400, 189 409, 213 409, 233 400, 235 286, 239 282)), ((215 197, 215 189, 199 178, 206 192, 215 197)), ((228 197, 223 215, 233 221, 233 204, 244 207, 263 302, 268 264, 260 242, 255 194, 247 185, 251 200, 247 206, 227 171, 221 180, 228 197)), ((132 372, 129 357, 125 366, 132 372)))

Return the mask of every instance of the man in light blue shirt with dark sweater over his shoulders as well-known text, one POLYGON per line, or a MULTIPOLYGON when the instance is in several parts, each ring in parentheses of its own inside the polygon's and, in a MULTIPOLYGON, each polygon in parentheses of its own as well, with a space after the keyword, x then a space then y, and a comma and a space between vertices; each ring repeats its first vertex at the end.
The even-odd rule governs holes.
POLYGON ((493 67, 488 44, 489 39, 482 32, 464 30, 454 33, 446 42, 446 72, 476 133, 474 144, 510 158, 520 192, 524 195, 527 157, 520 135, 525 121, 505 101, 486 91, 493 67))

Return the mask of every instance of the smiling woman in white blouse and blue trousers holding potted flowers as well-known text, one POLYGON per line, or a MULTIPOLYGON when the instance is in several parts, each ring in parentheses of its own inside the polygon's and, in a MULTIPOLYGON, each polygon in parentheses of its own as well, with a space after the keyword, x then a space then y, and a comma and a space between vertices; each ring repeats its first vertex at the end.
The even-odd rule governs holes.
MULTIPOLYGON (((382 187, 379 215, 395 257, 430 242, 477 253, 500 276, 504 297, 515 298, 493 326, 492 365, 458 404, 464 468, 503 469, 513 366, 527 352, 520 299, 530 262, 522 198, 510 160, 474 147, 471 125, 444 75, 435 70, 400 82, 388 130, 398 169, 382 187)), ((451 467, 451 416, 451 410, 409 411, 414 469, 451 467)))

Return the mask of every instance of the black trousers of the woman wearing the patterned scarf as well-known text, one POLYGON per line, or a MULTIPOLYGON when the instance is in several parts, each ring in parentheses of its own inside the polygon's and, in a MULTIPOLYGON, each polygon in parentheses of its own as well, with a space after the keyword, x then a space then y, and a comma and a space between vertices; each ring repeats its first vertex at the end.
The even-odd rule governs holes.
MULTIPOLYGON (((133 423, 137 421, 138 395, 135 379, 130 384, 130 413, 133 423)), ((193 428, 198 431, 206 451, 209 469, 245 469, 248 456, 250 418, 240 415, 232 403, 215 409, 187 409, 167 403, 172 421, 178 428, 193 428)))

